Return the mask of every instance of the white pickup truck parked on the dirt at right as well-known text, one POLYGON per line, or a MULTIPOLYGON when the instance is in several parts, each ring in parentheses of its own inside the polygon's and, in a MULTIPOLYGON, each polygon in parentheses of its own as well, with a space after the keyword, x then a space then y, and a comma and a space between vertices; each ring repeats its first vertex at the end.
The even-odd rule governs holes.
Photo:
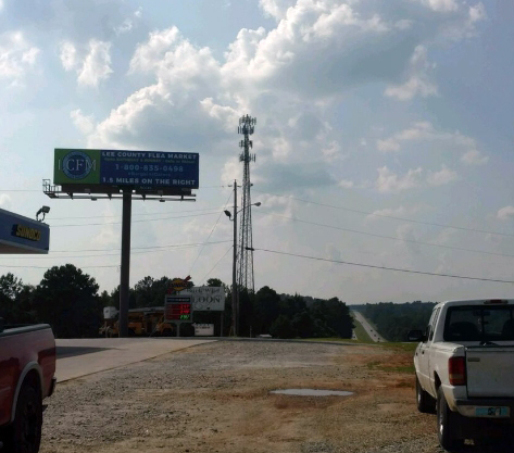
POLYGON ((437 411, 441 446, 512 442, 514 299, 449 301, 434 307, 414 355, 421 412, 437 411))

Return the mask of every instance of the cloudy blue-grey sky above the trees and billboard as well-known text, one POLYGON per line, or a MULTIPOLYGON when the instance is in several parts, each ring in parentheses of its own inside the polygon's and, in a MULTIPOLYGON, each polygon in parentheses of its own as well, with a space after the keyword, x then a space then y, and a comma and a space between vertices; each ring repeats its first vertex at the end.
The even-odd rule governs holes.
POLYGON ((51 207, 50 253, 0 273, 114 289, 122 203, 47 198, 53 149, 180 151, 196 202, 134 201, 130 284, 230 284, 249 114, 255 290, 512 297, 426 274, 514 280, 513 21, 504 0, 0 0, 0 206, 51 207))

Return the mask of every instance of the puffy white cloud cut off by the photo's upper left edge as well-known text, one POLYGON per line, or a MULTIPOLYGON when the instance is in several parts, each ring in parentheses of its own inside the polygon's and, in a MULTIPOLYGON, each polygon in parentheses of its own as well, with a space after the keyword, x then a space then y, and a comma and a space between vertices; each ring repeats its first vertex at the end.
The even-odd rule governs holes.
POLYGON ((0 78, 17 85, 36 64, 39 49, 32 46, 22 32, 0 35, 0 78))

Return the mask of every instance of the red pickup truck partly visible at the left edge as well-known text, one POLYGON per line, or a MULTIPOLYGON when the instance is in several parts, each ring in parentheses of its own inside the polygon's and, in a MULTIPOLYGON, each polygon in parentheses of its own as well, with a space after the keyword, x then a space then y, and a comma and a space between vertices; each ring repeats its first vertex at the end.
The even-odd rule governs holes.
POLYGON ((3 328, 0 318, 0 446, 37 453, 42 400, 55 388, 55 340, 48 324, 3 328))

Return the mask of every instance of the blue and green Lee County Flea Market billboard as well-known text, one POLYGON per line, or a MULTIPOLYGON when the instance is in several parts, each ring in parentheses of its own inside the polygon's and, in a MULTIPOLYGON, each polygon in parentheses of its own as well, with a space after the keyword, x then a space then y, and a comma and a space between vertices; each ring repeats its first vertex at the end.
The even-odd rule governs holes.
POLYGON ((198 153, 57 148, 53 183, 77 191, 198 189, 199 161, 198 153))

